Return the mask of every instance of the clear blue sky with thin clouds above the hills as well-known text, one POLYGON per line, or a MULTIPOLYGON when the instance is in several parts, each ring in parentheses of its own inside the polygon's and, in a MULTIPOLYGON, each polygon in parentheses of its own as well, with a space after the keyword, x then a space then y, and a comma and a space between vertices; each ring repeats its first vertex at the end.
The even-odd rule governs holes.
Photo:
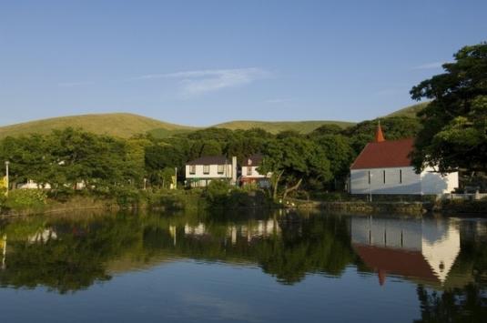
POLYGON ((370 119, 486 41, 486 12, 483 0, 0 0, 0 125, 370 119))

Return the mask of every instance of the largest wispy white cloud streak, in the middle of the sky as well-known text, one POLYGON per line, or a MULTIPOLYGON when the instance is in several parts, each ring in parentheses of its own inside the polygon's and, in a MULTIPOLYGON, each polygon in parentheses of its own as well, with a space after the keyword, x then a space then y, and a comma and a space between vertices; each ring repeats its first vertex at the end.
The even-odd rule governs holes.
POLYGON ((216 92, 229 87, 245 86, 258 79, 269 76, 269 71, 257 67, 249 67, 195 70, 167 74, 150 74, 146 76, 138 76, 133 79, 178 79, 180 95, 184 97, 191 97, 216 92))

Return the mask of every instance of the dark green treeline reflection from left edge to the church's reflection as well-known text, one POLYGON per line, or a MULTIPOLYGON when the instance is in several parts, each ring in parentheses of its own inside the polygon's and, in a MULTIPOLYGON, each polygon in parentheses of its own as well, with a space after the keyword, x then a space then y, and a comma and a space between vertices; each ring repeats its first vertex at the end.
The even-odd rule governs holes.
POLYGON ((42 285, 61 293, 75 291, 109 279, 107 265, 122 257, 136 266, 160 259, 157 255, 257 263, 285 284, 298 282, 309 272, 340 275, 353 261, 346 219, 317 216, 288 221, 274 217, 270 222, 279 227, 279 234, 274 228, 264 236, 256 236, 252 229, 269 220, 257 217, 119 214, 45 218, 35 223, 14 221, 2 228, 10 237, 0 284, 15 288, 42 285), (185 233, 185 226, 198 227, 201 223, 205 227, 203 234, 185 233), (47 227, 56 232, 56 238, 37 243, 29 239, 47 227), (228 235, 229 227, 243 230, 235 241, 228 235))

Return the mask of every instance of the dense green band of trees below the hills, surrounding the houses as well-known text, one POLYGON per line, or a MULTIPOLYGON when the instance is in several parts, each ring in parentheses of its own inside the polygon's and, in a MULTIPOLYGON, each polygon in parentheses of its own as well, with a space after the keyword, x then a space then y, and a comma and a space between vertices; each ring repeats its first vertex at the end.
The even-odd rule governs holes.
MULTIPOLYGON (((409 117, 381 122, 391 139, 414 136, 420 128, 409 117)), ((261 171, 273 174, 269 196, 278 198, 302 189, 342 189, 351 162, 370 142, 376 126, 377 120, 345 129, 326 125, 309 135, 207 128, 163 139, 149 134, 122 139, 66 128, 49 135, 5 137, 0 141, 0 160, 10 161, 11 187, 33 180, 39 188, 51 187, 50 195, 57 198, 82 188, 120 196, 129 203, 139 188, 169 188, 175 168, 181 183, 188 160, 224 155, 242 162, 261 153, 265 156, 261 171)))

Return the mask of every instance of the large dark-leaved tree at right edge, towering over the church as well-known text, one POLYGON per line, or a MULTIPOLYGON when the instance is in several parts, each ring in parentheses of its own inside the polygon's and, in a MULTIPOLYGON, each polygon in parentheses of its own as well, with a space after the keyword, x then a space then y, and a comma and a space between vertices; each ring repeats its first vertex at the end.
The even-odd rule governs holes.
POLYGON ((430 99, 420 113, 423 125, 412 159, 417 171, 436 167, 487 170, 487 43, 463 47, 445 73, 411 89, 416 100, 430 99))

